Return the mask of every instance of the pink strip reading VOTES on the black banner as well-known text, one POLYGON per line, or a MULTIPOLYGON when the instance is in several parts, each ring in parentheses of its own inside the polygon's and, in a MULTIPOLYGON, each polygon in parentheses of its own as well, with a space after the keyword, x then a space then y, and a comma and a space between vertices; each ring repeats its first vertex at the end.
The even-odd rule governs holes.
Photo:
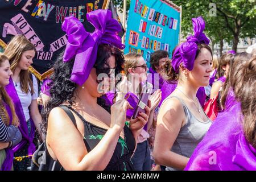
POLYGON ((18 28, 23 32, 26 38, 34 44, 37 51, 43 49, 44 44, 39 39, 38 35, 36 35, 35 31, 32 29, 30 24, 28 24, 27 20, 24 18, 22 14, 18 14, 14 16, 11 21, 18 26, 18 28))

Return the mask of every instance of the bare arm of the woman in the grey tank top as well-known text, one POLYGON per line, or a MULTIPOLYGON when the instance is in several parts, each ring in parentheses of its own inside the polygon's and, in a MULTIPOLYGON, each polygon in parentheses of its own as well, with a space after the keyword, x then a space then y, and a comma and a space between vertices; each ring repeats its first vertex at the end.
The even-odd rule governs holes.
POLYGON ((154 158, 156 164, 184 169, 189 158, 176 154, 171 148, 179 134, 185 114, 183 106, 175 98, 164 102, 156 125, 154 158))

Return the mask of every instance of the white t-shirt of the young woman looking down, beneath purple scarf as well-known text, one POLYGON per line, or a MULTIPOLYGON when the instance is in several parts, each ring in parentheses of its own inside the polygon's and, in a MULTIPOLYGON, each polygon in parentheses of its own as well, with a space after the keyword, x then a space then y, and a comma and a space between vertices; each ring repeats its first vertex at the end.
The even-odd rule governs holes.
MULTIPOLYGON (((31 95, 30 91, 28 93, 24 93, 20 88, 20 82, 14 82, 14 87, 16 92, 18 93, 20 103, 22 104, 23 113, 25 115, 26 121, 30 119, 30 110, 28 107, 31 105, 32 100, 36 100, 38 98, 38 81, 36 81, 36 77, 32 75, 33 78, 33 88, 34 94, 31 95)), ((30 85, 28 85, 28 89, 31 90, 30 85)))

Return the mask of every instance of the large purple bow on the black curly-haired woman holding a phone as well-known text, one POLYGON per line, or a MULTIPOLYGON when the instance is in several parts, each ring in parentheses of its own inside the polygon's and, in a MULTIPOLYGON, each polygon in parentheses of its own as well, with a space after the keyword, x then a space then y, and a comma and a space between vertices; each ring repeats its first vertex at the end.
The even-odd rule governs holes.
POLYGON ((65 18, 62 24, 62 30, 68 35, 63 61, 67 62, 75 56, 70 79, 80 86, 87 80, 96 62, 100 44, 110 44, 119 49, 125 48, 118 36, 121 27, 117 20, 112 18, 111 11, 92 11, 86 14, 86 18, 95 27, 92 33, 87 32, 82 23, 73 16, 65 18))

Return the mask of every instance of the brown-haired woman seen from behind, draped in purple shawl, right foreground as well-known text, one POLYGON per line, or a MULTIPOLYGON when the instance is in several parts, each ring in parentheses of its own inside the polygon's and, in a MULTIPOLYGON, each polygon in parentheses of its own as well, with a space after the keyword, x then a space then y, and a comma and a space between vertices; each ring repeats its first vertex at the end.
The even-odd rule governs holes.
POLYGON ((185 170, 256 170, 256 57, 238 57, 229 74, 236 103, 218 115, 185 170))

